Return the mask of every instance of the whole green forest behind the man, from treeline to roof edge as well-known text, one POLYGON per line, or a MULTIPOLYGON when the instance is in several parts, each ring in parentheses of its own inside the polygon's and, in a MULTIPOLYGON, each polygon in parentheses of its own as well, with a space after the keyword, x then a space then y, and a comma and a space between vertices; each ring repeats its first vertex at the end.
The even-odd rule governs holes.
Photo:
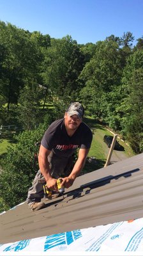
POLYGON ((143 36, 136 42, 127 31, 77 44, 71 35, 56 39, 0 21, 0 126, 20 131, 1 161, 1 210, 26 199, 34 143, 70 102, 82 102, 135 154, 143 152, 143 36))

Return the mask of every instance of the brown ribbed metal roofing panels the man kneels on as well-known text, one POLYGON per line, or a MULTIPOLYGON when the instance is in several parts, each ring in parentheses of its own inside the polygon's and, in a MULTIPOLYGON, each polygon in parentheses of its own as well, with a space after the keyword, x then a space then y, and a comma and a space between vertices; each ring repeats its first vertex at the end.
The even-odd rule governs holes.
POLYGON ((0 243, 143 217, 143 154, 78 177, 64 196, 32 212, 26 202, 0 216, 0 243))

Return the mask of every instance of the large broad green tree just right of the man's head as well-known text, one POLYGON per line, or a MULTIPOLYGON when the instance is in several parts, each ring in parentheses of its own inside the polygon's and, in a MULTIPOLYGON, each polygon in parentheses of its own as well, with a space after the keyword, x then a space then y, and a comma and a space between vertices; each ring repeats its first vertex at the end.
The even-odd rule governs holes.
POLYGON ((80 92, 80 97, 87 108, 92 109, 94 115, 104 121, 105 117, 113 113, 115 99, 120 99, 117 99, 117 88, 121 84, 121 76, 122 58, 119 45, 111 40, 98 43, 93 58, 86 63, 79 76, 82 83, 86 84, 80 92), (112 101, 111 93, 115 94, 115 97, 112 108, 109 109, 107 105, 109 100, 112 101))

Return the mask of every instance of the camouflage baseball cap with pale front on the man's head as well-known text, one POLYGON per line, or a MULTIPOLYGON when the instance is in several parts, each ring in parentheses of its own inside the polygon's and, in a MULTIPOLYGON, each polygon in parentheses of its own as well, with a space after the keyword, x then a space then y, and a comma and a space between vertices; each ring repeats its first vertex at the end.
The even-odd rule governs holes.
POLYGON ((84 115, 84 107, 80 102, 72 102, 67 111, 69 116, 77 115, 79 118, 82 118, 84 115))

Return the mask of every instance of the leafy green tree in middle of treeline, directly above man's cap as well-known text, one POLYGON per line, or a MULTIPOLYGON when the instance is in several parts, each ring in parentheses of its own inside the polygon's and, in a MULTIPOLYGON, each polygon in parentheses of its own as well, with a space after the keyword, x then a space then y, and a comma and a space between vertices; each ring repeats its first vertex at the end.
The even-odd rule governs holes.
POLYGON ((66 102, 75 100, 80 90, 77 78, 84 66, 84 54, 71 36, 51 40, 43 66, 43 81, 47 94, 55 102, 56 97, 66 102))

